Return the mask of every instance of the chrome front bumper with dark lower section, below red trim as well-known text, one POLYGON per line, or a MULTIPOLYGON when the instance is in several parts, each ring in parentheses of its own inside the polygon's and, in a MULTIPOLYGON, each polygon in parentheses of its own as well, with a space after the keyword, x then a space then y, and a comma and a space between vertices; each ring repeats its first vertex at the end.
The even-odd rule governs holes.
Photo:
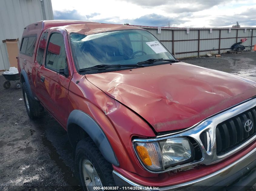
MULTIPOLYGON (((189 173, 189 171, 188 171, 189 173)), ((208 176, 185 182, 178 185, 159 187, 158 189, 148 189, 154 185, 140 185, 135 183, 120 173, 113 170, 113 177, 117 186, 141 187, 142 190, 247 190, 256 183, 256 148, 244 155, 239 160, 218 170, 208 176)), ((155 186, 156 187, 156 186, 155 186)), ((127 190, 125 188, 124 190, 127 190)))

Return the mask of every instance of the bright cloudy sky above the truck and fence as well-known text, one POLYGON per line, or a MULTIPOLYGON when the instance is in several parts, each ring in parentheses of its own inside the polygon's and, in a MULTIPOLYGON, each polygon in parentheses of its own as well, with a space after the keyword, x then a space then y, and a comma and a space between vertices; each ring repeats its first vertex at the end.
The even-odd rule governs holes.
POLYGON ((153 27, 256 27, 256 0, 52 0, 54 19, 153 27))

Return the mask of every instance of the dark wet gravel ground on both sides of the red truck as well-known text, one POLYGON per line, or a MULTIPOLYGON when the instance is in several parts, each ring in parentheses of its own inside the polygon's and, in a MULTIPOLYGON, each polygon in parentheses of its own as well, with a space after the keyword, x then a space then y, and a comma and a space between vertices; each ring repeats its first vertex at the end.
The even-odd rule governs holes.
MULTIPOLYGON (((244 52, 182 61, 256 81, 255 60, 256 52, 244 52)), ((4 80, 0 75, 0 190, 81 190, 65 130, 47 112, 29 120, 22 90, 15 90, 13 82, 4 89, 4 80)))

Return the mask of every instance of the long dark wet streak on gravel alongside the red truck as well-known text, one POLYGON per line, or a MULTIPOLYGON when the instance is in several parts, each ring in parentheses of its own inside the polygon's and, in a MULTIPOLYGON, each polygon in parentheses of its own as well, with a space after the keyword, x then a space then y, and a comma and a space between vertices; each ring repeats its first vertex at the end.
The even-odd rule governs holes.
POLYGON ((53 161, 55 161, 55 163, 58 165, 58 167, 63 171, 65 181, 69 185, 73 186, 73 188, 75 190, 81 189, 81 187, 78 186, 78 184, 79 184, 78 180, 72 176, 73 173, 72 173, 71 169, 60 158, 55 147, 52 145, 52 142, 50 142, 45 136, 42 137, 42 142, 43 142, 43 145, 45 145, 49 149, 50 158, 53 161))

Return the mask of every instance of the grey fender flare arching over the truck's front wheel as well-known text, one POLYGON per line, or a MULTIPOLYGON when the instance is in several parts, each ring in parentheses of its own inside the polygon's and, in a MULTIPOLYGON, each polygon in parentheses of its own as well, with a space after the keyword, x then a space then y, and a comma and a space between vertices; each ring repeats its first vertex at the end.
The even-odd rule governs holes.
POLYGON ((108 141, 108 138, 94 119, 80 110, 73 110, 68 116, 67 123, 68 139, 70 142, 72 140, 72 133, 69 133, 69 127, 71 124, 80 126, 91 137, 95 145, 99 148, 103 157, 111 164, 119 166, 119 162, 108 141))

